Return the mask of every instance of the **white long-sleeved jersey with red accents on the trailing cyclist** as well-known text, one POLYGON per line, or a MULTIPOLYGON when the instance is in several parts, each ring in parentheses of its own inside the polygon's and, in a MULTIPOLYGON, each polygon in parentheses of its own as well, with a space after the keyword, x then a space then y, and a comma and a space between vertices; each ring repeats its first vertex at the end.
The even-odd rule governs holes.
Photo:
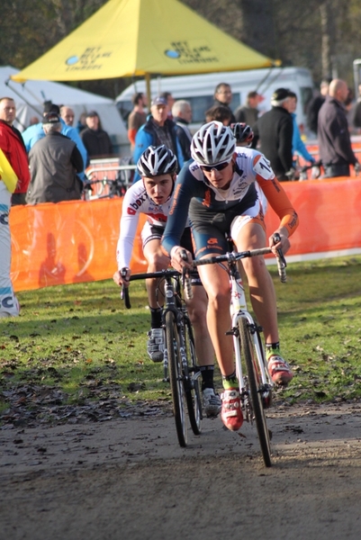
POLYGON ((173 193, 164 204, 156 204, 149 198, 142 180, 131 185, 122 202, 120 235, 116 250, 118 270, 131 264, 131 252, 140 214, 146 214, 150 225, 165 228, 172 203, 173 193))

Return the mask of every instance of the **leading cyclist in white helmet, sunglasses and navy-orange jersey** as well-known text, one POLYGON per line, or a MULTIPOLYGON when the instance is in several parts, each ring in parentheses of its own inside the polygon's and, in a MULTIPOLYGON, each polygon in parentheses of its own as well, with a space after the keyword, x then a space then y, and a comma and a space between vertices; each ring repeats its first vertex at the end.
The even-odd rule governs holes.
MULTIPOLYGON (((188 215, 196 259, 226 252, 225 235, 229 232, 239 251, 265 247, 266 229, 256 181, 280 218, 273 234, 277 232, 281 240, 273 246, 271 236, 268 243, 274 250, 280 247, 286 253, 290 247, 288 237, 297 228, 298 217, 266 157, 251 148, 236 148, 232 130, 218 121, 204 124, 194 134, 191 150, 194 161, 186 163, 177 178, 176 197, 162 240, 172 265, 176 269, 189 266, 180 257, 179 245, 188 215)), ((189 253, 188 261, 191 259, 189 253)), ((269 373, 274 383, 285 385, 293 374, 280 353, 271 276, 263 257, 242 262, 253 310, 264 330, 269 373)), ((229 275, 221 265, 199 266, 198 271, 208 295, 208 328, 223 380, 221 418, 227 428, 237 430, 243 418, 232 338, 226 335, 231 326, 229 275)))

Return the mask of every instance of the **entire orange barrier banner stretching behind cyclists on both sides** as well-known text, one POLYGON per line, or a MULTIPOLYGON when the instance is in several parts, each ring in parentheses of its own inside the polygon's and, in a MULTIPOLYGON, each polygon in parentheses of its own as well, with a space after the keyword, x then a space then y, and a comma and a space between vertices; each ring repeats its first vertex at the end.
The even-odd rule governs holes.
MULTIPOLYGON (((284 182, 300 216, 289 255, 361 247, 361 179, 284 182)), ((15 291, 112 277, 122 198, 14 206, 10 211, 15 291)), ((131 268, 143 272, 140 220, 131 268)), ((267 231, 279 220, 269 208, 267 231)))

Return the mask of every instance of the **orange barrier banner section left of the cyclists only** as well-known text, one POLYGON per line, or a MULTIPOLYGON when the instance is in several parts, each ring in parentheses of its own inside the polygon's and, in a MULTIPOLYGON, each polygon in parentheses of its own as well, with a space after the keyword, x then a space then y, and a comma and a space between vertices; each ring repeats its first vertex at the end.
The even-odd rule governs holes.
MULTIPOLYGON (((121 213, 121 198, 14 206, 9 220, 14 290, 111 277, 121 213)), ((140 234, 131 265, 144 272, 140 234)))

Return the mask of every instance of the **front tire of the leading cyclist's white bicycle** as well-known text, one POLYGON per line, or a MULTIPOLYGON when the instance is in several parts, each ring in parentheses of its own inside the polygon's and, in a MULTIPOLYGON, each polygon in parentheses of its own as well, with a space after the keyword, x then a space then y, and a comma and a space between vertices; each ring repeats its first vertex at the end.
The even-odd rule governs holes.
POLYGON ((261 446, 263 461, 266 467, 271 467, 271 444, 269 438, 269 431, 266 425, 265 411, 263 409, 262 395, 259 391, 260 384, 257 371, 256 351, 253 344, 253 339, 250 335, 250 331, 248 328, 248 321, 244 318, 241 318, 239 320, 239 336, 242 345, 241 350, 243 351, 243 356, 248 374, 250 399, 252 403, 253 414, 256 420, 259 445, 261 446))

